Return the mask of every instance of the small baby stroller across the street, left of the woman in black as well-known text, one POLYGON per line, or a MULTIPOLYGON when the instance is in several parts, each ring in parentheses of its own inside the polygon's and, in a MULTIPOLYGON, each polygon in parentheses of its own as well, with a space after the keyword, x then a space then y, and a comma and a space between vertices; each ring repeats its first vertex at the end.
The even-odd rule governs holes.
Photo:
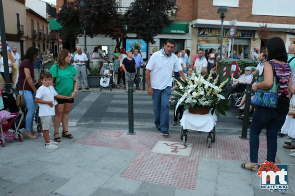
POLYGON ((102 88, 109 88, 112 91, 112 88, 115 85, 114 80, 114 64, 113 63, 104 63, 103 64, 104 74, 100 78, 100 91, 102 88))

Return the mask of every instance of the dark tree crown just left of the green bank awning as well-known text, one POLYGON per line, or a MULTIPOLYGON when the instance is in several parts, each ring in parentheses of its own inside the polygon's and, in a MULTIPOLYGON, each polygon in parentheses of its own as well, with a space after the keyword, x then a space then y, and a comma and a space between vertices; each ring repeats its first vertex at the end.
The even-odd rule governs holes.
POLYGON ((172 22, 169 13, 175 6, 175 0, 135 0, 126 12, 128 28, 147 44, 154 44, 154 37, 172 22))

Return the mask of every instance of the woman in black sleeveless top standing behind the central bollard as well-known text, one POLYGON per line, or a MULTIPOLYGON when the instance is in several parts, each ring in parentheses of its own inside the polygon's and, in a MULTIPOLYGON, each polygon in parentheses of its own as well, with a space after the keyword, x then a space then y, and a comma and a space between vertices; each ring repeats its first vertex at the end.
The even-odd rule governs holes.
MULTIPOLYGON (((133 81, 137 71, 135 60, 132 58, 132 51, 127 52, 127 57, 123 60, 122 68, 125 72, 126 82, 130 80, 133 81)), ((126 92, 128 92, 128 86, 126 86, 126 92)))

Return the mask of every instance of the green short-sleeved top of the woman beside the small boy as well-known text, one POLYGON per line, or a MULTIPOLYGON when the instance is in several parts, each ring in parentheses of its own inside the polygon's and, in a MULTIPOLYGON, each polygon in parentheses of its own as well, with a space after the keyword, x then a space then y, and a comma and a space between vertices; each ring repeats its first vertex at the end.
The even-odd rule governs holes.
POLYGON ((74 91, 75 75, 77 71, 73 65, 67 65, 65 68, 59 68, 59 65, 54 64, 50 73, 55 78, 54 88, 59 95, 70 96, 74 91), (58 75, 57 75, 58 74, 58 75))

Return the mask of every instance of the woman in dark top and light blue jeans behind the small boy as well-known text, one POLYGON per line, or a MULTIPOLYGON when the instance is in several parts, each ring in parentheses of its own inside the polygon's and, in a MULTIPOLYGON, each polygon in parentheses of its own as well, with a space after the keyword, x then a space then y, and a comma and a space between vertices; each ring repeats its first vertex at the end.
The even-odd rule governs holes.
POLYGON ((39 50, 35 47, 30 47, 25 55, 25 60, 19 67, 19 78, 18 78, 18 89, 19 94, 23 93, 24 88, 24 98, 26 100, 26 107, 28 110, 26 116, 26 132, 25 136, 28 139, 37 138, 35 132, 33 131, 33 117, 35 113, 35 95, 36 88, 34 85, 34 65, 33 63, 39 58, 39 50), (25 83, 25 86, 24 86, 25 83))

